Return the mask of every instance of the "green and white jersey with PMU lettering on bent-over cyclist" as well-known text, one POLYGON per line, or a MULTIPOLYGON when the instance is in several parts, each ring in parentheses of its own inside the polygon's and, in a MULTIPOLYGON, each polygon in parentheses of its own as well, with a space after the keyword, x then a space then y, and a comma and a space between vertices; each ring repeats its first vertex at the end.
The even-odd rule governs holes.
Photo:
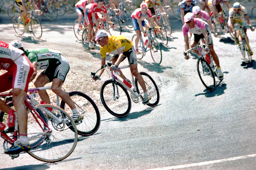
POLYGON ((37 70, 46 69, 64 58, 58 51, 48 48, 26 49, 25 55, 30 62, 37 62, 37 70))

